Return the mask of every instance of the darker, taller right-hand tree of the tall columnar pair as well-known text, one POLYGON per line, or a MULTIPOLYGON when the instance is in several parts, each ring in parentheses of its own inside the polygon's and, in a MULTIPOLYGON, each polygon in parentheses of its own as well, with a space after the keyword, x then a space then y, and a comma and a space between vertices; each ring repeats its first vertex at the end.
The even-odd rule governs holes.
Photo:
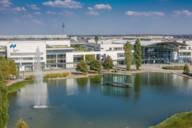
POLYGON ((142 48, 139 39, 136 40, 134 45, 134 60, 136 69, 139 70, 142 65, 142 48))

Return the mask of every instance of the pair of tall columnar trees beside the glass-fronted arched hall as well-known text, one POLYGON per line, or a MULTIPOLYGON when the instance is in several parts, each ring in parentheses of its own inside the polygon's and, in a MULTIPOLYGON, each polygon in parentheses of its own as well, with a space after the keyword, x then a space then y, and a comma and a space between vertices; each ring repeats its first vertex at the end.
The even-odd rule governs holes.
POLYGON ((131 65, 135 63, 136 69, 139 70, 139 68, 142 65, 142 48, 141 48, 141 43, 140 40, 137 39, 134 45, 134 53, 132 54, 132 45, 131 43, 127 42, 124 45, 124 51, 125 51, 125 64, 126 64, 126 69, 131 70, 131 65), (134 59, 133 59, 134 55, 134 59))

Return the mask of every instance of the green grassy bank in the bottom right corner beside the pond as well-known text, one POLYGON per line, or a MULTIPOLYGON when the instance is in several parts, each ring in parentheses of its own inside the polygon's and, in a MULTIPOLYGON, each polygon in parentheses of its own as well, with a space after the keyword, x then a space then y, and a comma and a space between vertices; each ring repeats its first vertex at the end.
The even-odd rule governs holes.
POLYGON ((151 128, 192 128, 192 112, 175 114, 151 128))

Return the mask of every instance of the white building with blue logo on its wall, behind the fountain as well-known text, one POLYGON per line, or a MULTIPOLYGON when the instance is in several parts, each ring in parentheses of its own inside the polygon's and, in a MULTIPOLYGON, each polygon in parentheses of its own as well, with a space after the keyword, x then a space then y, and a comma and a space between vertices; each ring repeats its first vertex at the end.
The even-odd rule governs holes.
POLYGON ((65 50, 72 50, 70 39, 66 36, 1 36, 0 39, 0 56, 14 60, 18 67, 25 71, 33 70, 37 48, 41 53, 41 63, 44 68, 49 67, 52 59, 50 54, 53 59, 55 56, 59 60, 59 56, 64 56, 65 50), (62 52, 61 55, 58 52, 62 52))

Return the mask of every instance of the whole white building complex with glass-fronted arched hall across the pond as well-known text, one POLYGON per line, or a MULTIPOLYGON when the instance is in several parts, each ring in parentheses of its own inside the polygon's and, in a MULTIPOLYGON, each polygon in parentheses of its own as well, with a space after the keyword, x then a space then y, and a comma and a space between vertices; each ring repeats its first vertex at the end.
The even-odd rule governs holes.
MULTIPOLYGON (((123 46, 130 42, 134 46, 136 37, 104 37, 98 42, 93 38, 83 40, 80 46, 86 49, 81 51, 72 47, 78 44, 78 38, 69 38, 66 35, 45 36, 0 36, 0 56, 16 62, 20 70, 32 71, 37 48, 40 51, 41 63, 44 69, 71 69, 75 68, 80 60, 92 55, 103 61, 110 56, 115 65, 124 64, 123 46), (75 39, 75 41, 74 41, 75 39)), ((171 37, 142 37, 143 63, 186 63, 192 60, 192 42, 174 40, 171 37)), ((134 54, 134 50, 132 51, 134 54)))

